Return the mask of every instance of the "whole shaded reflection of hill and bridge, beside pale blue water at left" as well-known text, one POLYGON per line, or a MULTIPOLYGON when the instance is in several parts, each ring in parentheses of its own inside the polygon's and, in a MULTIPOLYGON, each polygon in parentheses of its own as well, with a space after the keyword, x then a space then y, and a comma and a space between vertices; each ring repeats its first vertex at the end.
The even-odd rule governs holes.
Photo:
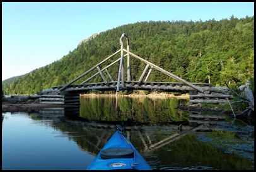
POLYGON ((254 169, 254 126, 177 108, 187 101, 84 97, 80 106, 44 109, 40 118, 55 117, 53 127, 93 156, 121 124, 153 169, 254 169))

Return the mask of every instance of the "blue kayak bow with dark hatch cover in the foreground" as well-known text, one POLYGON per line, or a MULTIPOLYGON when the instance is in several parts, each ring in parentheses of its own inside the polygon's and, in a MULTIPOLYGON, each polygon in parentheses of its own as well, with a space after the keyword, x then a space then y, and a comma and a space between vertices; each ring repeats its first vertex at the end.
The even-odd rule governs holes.
POLYGON ((97 154, 87 170, 152 170, 129 139, 117 130, 97 154))

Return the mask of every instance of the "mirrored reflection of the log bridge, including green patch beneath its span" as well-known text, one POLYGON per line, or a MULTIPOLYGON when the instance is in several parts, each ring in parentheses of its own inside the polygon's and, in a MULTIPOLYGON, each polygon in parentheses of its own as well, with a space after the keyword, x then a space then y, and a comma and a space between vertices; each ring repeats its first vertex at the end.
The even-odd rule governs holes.
POLYGON ((115 132, 116 124, 124 126, 134 146, 149 153, 191 132, 212 132, 212 126, 225 119, 224 115, 202 115, 177 108, 187 102, 177 98, 85 96, 81 97, 80 106, 45 108, 40 114, 64 122, 56 125, 76 128, 70 136, 90 154, 96 155, 102 149, 115 132))

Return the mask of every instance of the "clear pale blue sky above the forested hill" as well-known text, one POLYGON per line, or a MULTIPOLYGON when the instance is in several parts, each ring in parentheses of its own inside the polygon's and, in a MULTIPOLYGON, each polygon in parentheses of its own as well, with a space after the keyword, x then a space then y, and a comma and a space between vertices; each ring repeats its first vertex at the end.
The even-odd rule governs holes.
MULTIPOLYGON (((254 3, 2 2, 2 81, 51 64, 93 35, 140 21, 207 21, 254 15, 254 3)), ((121 35, 120 35, 121 36, 121 35)))

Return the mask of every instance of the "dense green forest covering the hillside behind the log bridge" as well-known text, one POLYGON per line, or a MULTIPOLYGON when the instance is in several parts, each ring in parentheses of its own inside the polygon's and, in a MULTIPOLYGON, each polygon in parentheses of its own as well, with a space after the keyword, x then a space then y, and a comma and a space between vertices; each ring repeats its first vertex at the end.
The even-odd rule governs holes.
MULTIPOLYGON (((52 86, 65 85, 120 49, 122 33, 129 37, 133 54, 190 83, 225 86, 253 81, 254 91, 254 16, 216 21, 143 21, 122 25, 82 42, 62 59, 35 69, 14 81, 2 81, 4 95, 34 95, 52 86)), ((124 49, 126 42, 124 39, 124 49)), ((120 53, 119 53, 120 57, 120 53)), ((109 60, 101 69, 113 60, 109 60)), ((146 64, 131 57, 132 81, 138 81, 146 64)), ((117 81, 119 63, 108 71, 117 81)), ((153 70, 154 71, 154 70, 153 70)), ((84 76, 74 84, 82 83, 84 76)), ((107 76, 107 74, 106 74, 107 76)), ((159 71, 148 81, 177 82, 159 71)), ((90 83, 103 82, 100 76, 90 83)))

